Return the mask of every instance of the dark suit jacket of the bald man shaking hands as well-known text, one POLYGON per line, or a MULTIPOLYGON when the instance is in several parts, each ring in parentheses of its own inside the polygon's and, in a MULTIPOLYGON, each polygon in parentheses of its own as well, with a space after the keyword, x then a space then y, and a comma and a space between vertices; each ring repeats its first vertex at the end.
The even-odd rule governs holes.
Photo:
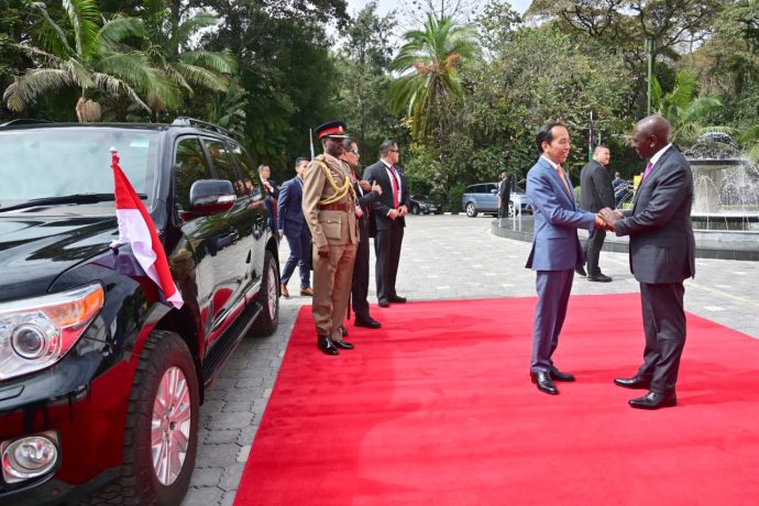
POLYGON ((691 226, 693 173, 671 146, 640 183, 616 234, 630 237, 630 271, 640 283, 680 283, 695 275, 691 226))

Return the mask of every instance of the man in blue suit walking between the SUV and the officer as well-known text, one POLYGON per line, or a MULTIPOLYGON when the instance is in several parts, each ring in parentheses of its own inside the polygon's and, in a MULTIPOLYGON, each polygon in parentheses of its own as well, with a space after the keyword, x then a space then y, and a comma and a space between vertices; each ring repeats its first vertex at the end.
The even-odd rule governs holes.
POLYGON ((314 295, 311 289, 311 232, 308 230, 300 207, 304 195, 302 173, 307 166, 308 160, 296 160, 295 172, 297 175, 293 179, 286 180, 279 190, 277 231, 280 238, 283 234, 287 238, 287 244, 290 248, 290 255, 282 271, 282 286, 279 287, 285 297, 290 296, 287 292, 287 282, 290 280, 296 264, 300 270, 300 295, 314 295))

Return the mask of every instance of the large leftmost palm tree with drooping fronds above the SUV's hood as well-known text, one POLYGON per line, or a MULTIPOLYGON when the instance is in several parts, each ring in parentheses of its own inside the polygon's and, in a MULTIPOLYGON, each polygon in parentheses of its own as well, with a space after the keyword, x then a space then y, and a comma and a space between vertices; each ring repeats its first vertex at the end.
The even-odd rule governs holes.
POLYGON ((31 9, 41 19, 38 47, 21 44, 37 65, 18 76, 3 99, 14 112, 23 111, 43 94, 74 87, 81 90, 76 106, 79 121, 99 121, 98 94, 127 97, 150 111, 143 100, 147 91, 165 103, 176 103, 176 88, 151 65, 143 52, 125 45, 130 37, 143 37, 144 26, 134 18, 117 15, 103 20, 95 0, 62 0, 68 25, 58 24, 43 2, 31 9), (101 24, 100 24, 101 23, 101 24))

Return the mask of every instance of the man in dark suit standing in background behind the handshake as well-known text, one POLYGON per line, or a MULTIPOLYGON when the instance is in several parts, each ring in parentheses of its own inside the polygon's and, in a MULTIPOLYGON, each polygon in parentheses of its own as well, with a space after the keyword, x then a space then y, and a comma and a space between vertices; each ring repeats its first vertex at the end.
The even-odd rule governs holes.
MULTIPOLYGON (((580 207, 586 211, 598 212, 605 207, 614 208, 614 193, 612 191, 612 179, 606 172, 606 166, 612 157, 608 146, 598 145, 593 150, 591 160, 580 172, 580 207)), ((604 246, 606 230, 594 229, 587 235, 587 241, 583 244, 582 251, 587 263, 587 280, 608 283, 612 278, 598 268, 598 256, 604 246)), ((585 271, 580 266, 578 274, 585 275, 585 271)))

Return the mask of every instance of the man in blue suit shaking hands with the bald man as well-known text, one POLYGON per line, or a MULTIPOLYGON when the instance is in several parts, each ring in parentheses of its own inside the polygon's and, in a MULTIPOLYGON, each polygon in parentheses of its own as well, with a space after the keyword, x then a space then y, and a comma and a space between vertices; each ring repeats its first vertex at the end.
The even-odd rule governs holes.
POLYGON ((604 222, 593 212, 579 209, 569 174, 561 167, 570 152, 566 128, 549 123, 538 131, 536 141, 540 158, 527 174, 527 198, 535 216, 527 267, 536 271, 538 292, 530 378, 540 392, 557 395, 559 389, 553 381, 574 381, 572 374, 553 365, 551 356, 566 316, 574 267, 585 263, 578 229, 594 230, 604 222))

